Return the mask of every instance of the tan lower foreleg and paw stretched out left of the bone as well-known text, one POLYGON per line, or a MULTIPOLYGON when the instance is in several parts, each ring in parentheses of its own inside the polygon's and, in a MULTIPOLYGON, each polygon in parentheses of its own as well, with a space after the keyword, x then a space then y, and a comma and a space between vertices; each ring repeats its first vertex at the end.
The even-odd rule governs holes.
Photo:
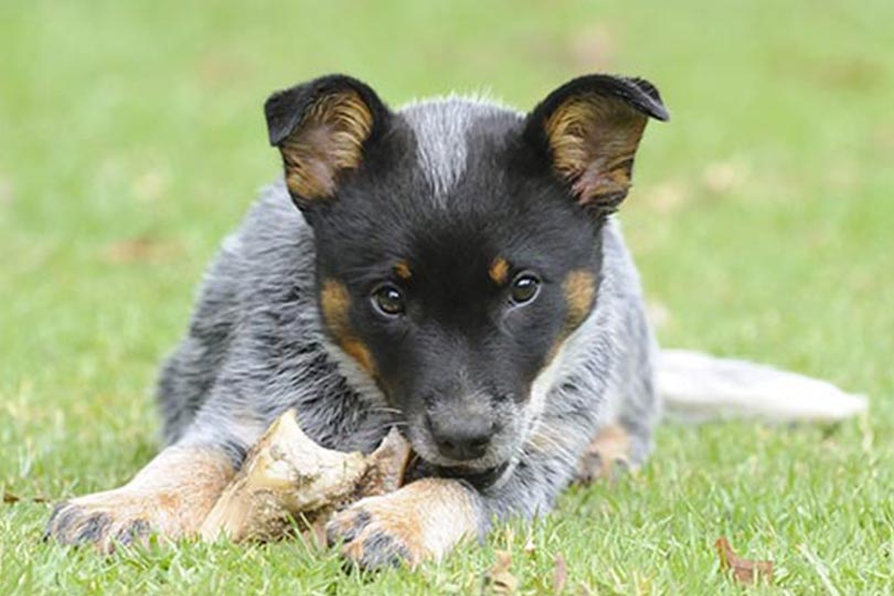
POLYGON ((215 450, 169 447, 127 485, 62 503, 46 535, 104 552, 149 532, 173 540, 194 535, 234 472, 215 450))

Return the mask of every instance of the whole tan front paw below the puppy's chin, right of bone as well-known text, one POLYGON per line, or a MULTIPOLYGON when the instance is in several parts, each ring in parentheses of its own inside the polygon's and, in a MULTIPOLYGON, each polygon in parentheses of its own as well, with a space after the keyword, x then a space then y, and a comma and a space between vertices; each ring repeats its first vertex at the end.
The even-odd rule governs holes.
POLYGON ((425 478, 395 492, 368 497, 329 522, 330 541, 363 567, 443 558, 479 528, 469 489, 456 480, 425 478))

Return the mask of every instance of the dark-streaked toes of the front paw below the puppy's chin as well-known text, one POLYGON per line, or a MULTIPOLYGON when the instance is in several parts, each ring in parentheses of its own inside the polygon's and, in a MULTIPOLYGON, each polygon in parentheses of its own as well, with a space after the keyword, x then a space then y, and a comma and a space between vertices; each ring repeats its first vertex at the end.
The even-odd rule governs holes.
POLYGON ((425 557, 413 515, 400 515, 387 496, 370 497, 337 513, 327 524, 330 546, 341 545, 342 555, 364 570, 408 564, 425 557))

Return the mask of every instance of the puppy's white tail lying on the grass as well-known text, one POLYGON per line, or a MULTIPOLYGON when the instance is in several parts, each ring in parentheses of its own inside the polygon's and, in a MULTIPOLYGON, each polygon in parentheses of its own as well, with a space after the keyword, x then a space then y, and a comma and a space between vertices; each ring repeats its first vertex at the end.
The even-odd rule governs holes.
POLYGON ((657 377, 670 417, 691 422, 756 417, 829 423, 868 407, 864 396, 826 381, 688 350, 661 350, 657 377))

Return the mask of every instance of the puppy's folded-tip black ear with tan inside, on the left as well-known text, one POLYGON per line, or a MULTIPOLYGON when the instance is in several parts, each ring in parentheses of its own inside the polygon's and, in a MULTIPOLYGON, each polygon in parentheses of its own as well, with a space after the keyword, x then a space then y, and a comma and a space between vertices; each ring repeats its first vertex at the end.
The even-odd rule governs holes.
POLYGON ((344 75, 277 92, 264 114, 270 145, 283 155, 286 185, 301 209, 334 195, 341 175, 360 167, 391 115, 375 92, 344 75))

